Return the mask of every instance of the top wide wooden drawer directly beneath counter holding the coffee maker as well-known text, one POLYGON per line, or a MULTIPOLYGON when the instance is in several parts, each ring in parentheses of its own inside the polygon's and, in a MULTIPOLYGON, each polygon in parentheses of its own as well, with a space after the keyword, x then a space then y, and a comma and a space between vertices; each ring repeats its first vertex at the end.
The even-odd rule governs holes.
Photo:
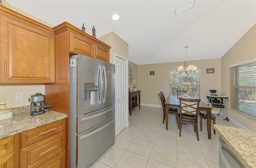
POLYGON ((28 145, 41 141, 47 137, 50 137, 56 133, 66 130, 66 119, 55 121, 53 123, 43 125, 28 131, 20 133, 21 147, 24 148, 28 145))

